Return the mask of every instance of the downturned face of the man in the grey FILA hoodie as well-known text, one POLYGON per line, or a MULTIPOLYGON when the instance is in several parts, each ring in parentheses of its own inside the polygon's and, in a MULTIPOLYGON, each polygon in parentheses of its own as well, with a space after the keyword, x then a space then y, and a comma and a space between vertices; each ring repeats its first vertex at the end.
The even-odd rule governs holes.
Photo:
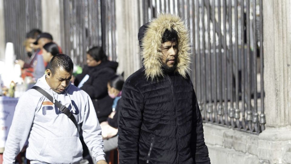
POLYGON ((69 85, 69 81, 72 78, 73 70, 67 72, 64 68, 58 67, 55 70, 55 74, 52 74, 51 70, 46 70, 46 82, 49 87, 57 93, 62 93, 69 85))

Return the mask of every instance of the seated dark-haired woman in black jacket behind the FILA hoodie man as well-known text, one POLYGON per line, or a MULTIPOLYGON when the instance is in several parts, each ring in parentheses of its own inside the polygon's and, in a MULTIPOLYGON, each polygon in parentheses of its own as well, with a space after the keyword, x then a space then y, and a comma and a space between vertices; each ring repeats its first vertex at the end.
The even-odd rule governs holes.
POLYGON ((107 120, 112 112, 113 99, 107 92, 107 82, 115 75, 117 62, 108 61, 102 47, 95 46, 87 52, 87 66, 74 81, 92 99, 99 122, 107 120))

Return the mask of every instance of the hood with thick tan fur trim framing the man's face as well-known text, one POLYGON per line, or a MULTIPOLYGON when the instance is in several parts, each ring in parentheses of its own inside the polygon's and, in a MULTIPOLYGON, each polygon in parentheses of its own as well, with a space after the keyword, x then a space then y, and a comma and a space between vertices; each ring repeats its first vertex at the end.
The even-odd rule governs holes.
POLYGON ((145 67, 146 78, 155 79, 164 76, 162 70, 162 36, 165 30, 176 30, 178 34, 177 68, 175 72, 186 78, 189 71, 190 55, 188 53, 189 36, 184 22, 175 15, 161 14, 139 29, 139 44, 141 46, 142 64, 145 67))

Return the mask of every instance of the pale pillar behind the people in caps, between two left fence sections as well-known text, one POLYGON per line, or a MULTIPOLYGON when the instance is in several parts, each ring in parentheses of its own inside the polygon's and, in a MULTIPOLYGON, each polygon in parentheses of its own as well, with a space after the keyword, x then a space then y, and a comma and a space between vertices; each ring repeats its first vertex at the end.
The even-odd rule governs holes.
POLYGON ((61 45, 60 20, 60 1, 42 0, 42 31, 49 32, 58 45, 61 45))

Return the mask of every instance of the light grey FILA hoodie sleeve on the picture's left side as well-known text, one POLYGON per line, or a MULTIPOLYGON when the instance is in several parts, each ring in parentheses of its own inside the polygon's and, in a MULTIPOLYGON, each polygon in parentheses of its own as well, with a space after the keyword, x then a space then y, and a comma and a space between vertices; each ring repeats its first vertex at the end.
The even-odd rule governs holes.
POLYGON ((3 164, 15 162, 15 157, 26 142, 35 116, 35 110, 39 106, 41 99, 42 97, 32 96, 29 91, 19 98, 5 143, 3 164))

